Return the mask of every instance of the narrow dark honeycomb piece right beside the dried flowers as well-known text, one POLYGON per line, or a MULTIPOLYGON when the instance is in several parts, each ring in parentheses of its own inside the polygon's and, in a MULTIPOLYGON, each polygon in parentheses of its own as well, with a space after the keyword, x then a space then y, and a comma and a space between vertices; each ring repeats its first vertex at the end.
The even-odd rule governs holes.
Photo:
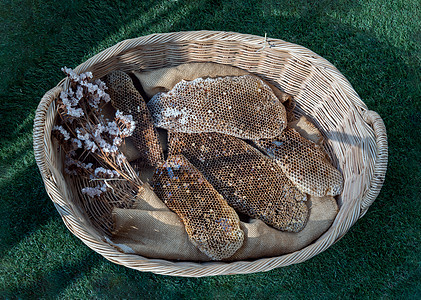
POLYGON ((111 104, 124 115, 132 115, 136 121, 130 137, 139 151, 140 160, 147 166, 155 166, 164 159, 158 134, 153 127, 152 117, 142 95, 133 85, 130 76, 114 71, 105 78, 111 104))

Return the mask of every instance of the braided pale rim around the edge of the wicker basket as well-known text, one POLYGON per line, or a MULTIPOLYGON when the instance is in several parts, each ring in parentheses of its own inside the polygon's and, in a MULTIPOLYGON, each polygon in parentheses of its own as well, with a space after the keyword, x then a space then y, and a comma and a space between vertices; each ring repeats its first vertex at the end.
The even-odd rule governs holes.
POLYGON ((66 198, 68 195, 66 194, 66 191, 63 191, 63 179, 59 178, 60 175, 54 170, 54 158, 51 157, 51 145, 49 145, 49 139, 51 138, 50 132, 54 120, 51 115, 53 111, 51 103, 63 87, 66 86, 66 80, 62 80, 55 88, 44 95, 37 109, 34 121, 34 152, 36 162, 40 169, 47 193, 54 202, 69 230, 80 238, 88 247, 114 263, 122 264, 140 271, 188 277, 263 272, 280 266, 299 263, 326 250, 338 241, 349 228, 366 213, 368 207, 373 203, 380 192, 387 165, 387 137, 382 119, 377 113, 367 109, 367 106, 354 91, 348 80, 331 63, 303 46, 285 42, 280 39, 266 39, 255 35, 224 31, 157 33, 121 41, 88 59, 76 67, 75 71, 78 73, 88 71, 92 66, 97 65, 99 62, 105 62, 118 54, 136 47, 157 47, 157 45, 178 45, 189 42, 212 43, 215 41, 218 43, 238 43, 239 45, 244 45, 244 47, 258 47, 258 49, 261 49, 259 51, 262 51, 262 53, 276 54, 278 51, 286 51, 292 57, 306 60, 319 68, 321 72, 328 74, 328 76, 332 76, 335 84, 347 93, 349 100, 355 106, 355 110, 360 114, 361 119, 372 127, 374 132, 377 149, 376 157, 374 159, 374 173, 371 181, 367 184, 368 189, 363 197, 359 199, 359 202, 353 205, 351 211, 344 212, 346 221, 338 221, 338 219, 335 219, 331 229, 316 241, 301 250, 289 254, 250 261, 199 263, 148 259, 139 255, 121 253, 108 244, 95 230, 90 228, 89 224, 83 222, 77 208, 72 205, 70 199, 66 198))

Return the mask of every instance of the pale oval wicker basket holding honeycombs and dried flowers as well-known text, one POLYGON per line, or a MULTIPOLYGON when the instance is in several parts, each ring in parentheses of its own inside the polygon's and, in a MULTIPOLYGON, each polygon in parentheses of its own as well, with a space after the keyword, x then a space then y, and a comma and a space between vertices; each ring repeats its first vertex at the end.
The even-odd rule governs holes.
POLYGON ((294 95, 295 113, 310 116, 328 140, 328 151, 343 172, 339 213, 319 239, 302 250, 254 261, 175 262, 124 254, 104 241, 74 201, 51 140, 54 99, 62 80, 42 98, 35 117, 34 151, 46 190, 68 229, 108 260, 140 271, 175 276, 245 274, 303 262, 338 241, 380 192, 386 173, 387 137, 380 116, 369 111, 346 78, 314 52, 278 39, 232 32, 153 34, 125 40, 87 60, 75 71, 99 78, 113 70, 156 69, 187 62, 215 62, 248 70, 294 95))

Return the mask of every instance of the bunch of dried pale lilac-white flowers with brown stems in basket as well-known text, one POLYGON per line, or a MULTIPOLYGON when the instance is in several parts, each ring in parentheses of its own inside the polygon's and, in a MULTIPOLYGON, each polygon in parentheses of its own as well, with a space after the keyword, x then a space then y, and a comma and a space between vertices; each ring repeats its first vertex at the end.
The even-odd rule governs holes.
POLYGON ((135 121, 118 110, 113 120, 105 119, 102 108, 111 99, 105 83, 93 81, 91 72, 78 75, 67 67, 62 71, 69 87, 57 99, 60 118, 53 134, 65 151, 65 172, 99 181, 96 187, 81 190, 97 198, 110 190, 109 180, 131 181, 124 172, 126 157, 119 146, 133 134, 135 121))

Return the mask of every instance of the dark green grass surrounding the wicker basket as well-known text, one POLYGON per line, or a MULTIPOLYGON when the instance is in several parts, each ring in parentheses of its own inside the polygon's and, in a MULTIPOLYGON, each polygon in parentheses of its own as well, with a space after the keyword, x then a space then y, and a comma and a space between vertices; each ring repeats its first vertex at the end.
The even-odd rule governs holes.
POLYGON ((420 2, 133 2, 1 2, 0 297, 420 298, 420 2), (307 262, 200 279, 137 272, 75 238, 45 192, 32 121, 40 98, 63 77, 60 68, 123 39, 200 29, 306 46, 385 121, 390 162, 382 192, 342 240, 307 262))

